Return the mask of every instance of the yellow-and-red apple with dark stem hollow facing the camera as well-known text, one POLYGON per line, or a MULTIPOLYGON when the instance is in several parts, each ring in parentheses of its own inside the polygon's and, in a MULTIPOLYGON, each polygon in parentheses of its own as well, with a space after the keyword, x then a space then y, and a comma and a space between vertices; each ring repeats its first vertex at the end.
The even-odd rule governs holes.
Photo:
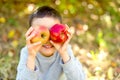
POLYGON ((50 37, 49 29, 46 28, 45 26, 38 27, 31 34, 35 34, 35 37, 31 39, 31 43, 40 41, 42 44, 45 44, 50 37))

